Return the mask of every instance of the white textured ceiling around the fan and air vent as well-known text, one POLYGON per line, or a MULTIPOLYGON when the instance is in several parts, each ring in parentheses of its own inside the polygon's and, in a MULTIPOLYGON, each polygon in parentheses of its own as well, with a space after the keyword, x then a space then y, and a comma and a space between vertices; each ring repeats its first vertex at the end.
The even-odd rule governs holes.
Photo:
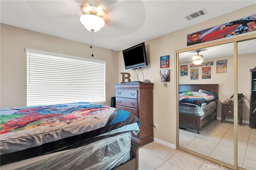
MULTIPOLYGON (((90 44, 90 32, 80 23, 80 5, 74 0, 1 0, 0 22, 90 44)), ((93 34, 94 45, 120 51, 138 43, 210 20, 255 4, 255 0, 105 0, 98 1, 109 21, 93 34), (184 17, 206 10, 187 21, 184 17)))

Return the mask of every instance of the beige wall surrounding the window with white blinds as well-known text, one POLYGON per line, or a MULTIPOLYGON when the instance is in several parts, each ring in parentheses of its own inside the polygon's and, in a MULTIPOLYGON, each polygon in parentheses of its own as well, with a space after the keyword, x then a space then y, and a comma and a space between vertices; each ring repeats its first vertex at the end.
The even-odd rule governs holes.
MULTIPOLYGON (((86 31, 86 30, 85 30, 86 31)), ((24 49, 106 61, 106 105, 115 94, 117 52, 1 23, 0 107, 26 106, 26 53, 24 49)))

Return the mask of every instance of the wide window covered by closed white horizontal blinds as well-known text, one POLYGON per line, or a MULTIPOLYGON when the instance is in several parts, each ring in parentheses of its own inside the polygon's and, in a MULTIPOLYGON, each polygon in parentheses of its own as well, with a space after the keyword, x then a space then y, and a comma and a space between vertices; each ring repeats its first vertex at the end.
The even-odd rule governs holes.
POLYGON ((105 61, 25 50, 27 106, 106 102, 105 61))

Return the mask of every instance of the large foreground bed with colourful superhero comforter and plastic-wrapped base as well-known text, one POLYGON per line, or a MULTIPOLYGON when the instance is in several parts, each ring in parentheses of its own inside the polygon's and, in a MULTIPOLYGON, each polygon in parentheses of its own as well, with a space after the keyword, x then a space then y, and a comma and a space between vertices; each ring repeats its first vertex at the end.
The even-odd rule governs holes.
POLYGON ((93 103, 0 109, 1 169, 138 169, 140 121, 93 103))

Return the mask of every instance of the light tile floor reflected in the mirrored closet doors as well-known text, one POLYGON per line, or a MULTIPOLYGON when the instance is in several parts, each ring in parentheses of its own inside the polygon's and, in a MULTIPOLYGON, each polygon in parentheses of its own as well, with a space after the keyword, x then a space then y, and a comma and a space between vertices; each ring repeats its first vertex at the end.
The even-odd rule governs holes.
MULTIPOLYGON (((202 127, 201 134, 179 129, 180 146, 211 158, 234 164, 234 124, 213 120, 202 127)), ((238 125, 238 166, 256 170, 256 129, 238 125)))

